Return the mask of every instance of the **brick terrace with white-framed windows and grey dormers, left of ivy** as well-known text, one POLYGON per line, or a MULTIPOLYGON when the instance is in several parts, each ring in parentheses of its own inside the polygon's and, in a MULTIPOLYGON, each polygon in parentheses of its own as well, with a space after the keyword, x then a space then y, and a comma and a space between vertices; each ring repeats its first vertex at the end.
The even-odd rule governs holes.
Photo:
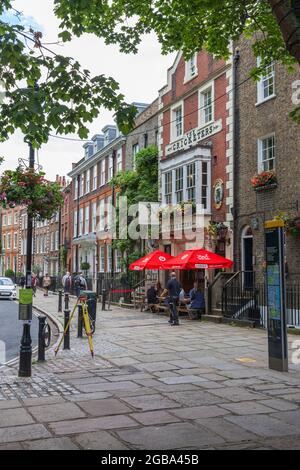
MULTIPOLYGON (((84 144, 84 157, 69 173, 72 178, 73 223, 72 272, 88 263, 94 287, 98 272, 111 271, 112 248, 107 204, 112 203, 112 176, 124 169, 125 137, 116 126, 105 126, 103 134, 84 144), (106 236, 107 234, 107 236, 106 236)), ((119 256, 115 256, 115 269, 119 256)))

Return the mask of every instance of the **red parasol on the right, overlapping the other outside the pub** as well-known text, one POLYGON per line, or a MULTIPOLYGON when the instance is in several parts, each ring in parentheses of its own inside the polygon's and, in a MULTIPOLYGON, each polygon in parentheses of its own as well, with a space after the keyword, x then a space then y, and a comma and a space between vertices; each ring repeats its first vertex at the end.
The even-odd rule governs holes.
POLYGON ((233 261, 204 248, 191 248, 165 263, 165 269, 231 268, 233 261))

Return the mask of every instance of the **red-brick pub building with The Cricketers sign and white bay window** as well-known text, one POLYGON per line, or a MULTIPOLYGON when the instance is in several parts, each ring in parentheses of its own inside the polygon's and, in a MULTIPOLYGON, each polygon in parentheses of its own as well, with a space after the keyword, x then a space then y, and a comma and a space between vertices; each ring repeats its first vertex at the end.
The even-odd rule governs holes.
MULTIPOLYGON (((222 238, 206 236, 206 246, 227 257, 232 256, 232 74, 231 63, 204 51, 188 61, 178 53, 159 94, 162 203, 202 204, 205 227, 210 221, 227 227, 222 238)), ((172 255, 193 244, 172 235, 162 240, 172 255)))

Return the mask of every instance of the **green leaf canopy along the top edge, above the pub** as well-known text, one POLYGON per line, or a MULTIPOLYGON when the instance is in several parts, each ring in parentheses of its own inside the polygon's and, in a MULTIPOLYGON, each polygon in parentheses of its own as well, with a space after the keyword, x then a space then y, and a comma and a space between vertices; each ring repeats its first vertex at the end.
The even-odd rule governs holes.
MULTIPOLYGON (((205 48, 216 57, 226 58, 232 40, 241 34, 255 34, 255 53, 268 61, 290 62, 270 3, 268 0, 55 0, 55 13, 63 31, 76 36, 94 33, 107 44, 118 44, 126 53, 136 53, 143 36, 154 31, 163 53, 182 50, 189 57, 205 48)), ((61 38, 68 40, 65 32, 61 38)))

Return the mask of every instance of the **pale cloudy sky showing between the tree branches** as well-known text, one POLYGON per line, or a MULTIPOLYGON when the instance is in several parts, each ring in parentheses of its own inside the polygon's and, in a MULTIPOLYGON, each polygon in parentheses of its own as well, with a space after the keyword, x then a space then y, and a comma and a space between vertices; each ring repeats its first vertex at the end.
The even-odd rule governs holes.
MULTIPOLYGON (((13 6, 24 14, 26 24, 32 25, 34 29, 39 27, 44 42, 56 42, 59 21, 53 12, 53 0, 15 0, 13 6)), ((158 90, 166 84, 167 69, 175 58, 175 54, 161 54, 161 47, 154 35, 145 37, 136 55, 122 54, 117 46, 107 46, 94 35, 84 35, 70 43, 50 47, 60 54, 74 57, 93 75, 103 73, 112 76, 119 82, 120 92, 128 103, 151 103, 155 100, 158 90)), ((113 124, 112 116, 112 112, 103 110, 90 125, 90 137, 100 133, 106 124, 113 124)), ((74 135, 69 137, 77 138, 74 135)), ((22 134, 16 132, 8 141, 0 143, 0 155, 5 158, 1 170, 15 168, 18 158, 28 158, 28 147, 22 134)), ((72 162, 77 162, 82 156, 81 142, 56 138, 50 138, 37 155, 49 179, 55 179, 57 174, 67 175, 72 162)))

